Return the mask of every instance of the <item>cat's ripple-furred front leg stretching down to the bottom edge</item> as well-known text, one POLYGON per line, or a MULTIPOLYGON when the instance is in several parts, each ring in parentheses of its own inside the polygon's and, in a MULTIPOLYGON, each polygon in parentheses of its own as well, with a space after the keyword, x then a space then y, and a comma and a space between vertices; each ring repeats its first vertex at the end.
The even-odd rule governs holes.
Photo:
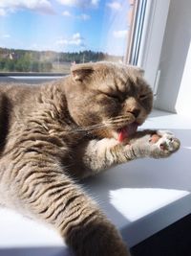
POLYGON ((1 180, 10 207, 52 224, 76 256, 130 255, 116 227, 61 164, 36 152, 17 157, 22 160, 10 167, 7 161, 9 173, 1 180))

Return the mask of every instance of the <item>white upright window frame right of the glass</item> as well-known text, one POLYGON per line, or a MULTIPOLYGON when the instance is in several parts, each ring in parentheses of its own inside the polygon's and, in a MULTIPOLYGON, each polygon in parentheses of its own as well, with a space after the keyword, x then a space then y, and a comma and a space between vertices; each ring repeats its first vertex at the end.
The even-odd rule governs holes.
POLYGON ((146 5, 146 8, 143 12, 143 23, 141 26, 139 26, 141 29, 141 35, 140 33, 136 32, 138 28, 135 26, 135 32, 134 35, 132 35, 135 37, 131 41, 132 45, 130 47, 130 51, 133 51, 135 44, 138 44, 139 40, 138 51, 135 51, 136 53, 132 53, 133 55, 137 54, 138 57, 135 58, 132 56, 129 59, 131 64, 136 64, 144 69, 145 79, 150 83, 151 87, 153 88, 154 95, 156 95, 159 81, 159 58, 170 0, 137 1, 138 8, 141 8, 141 6, 144 5, 146 5), (132 61, 132 59, 134 59, 134 61, 132 61))

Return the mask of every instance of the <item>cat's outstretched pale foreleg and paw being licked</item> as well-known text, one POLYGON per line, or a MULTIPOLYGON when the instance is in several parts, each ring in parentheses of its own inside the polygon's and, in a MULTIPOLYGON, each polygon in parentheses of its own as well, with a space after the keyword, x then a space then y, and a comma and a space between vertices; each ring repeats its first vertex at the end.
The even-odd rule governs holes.
POLYGON ((75 157, 78 175, 96 175, 114 165, 141 157, 167 157, 180 148, 180 141, 168 131, 138 131, 134 138, 122 144, 115 139, 101 139, 80 145, 75 157))

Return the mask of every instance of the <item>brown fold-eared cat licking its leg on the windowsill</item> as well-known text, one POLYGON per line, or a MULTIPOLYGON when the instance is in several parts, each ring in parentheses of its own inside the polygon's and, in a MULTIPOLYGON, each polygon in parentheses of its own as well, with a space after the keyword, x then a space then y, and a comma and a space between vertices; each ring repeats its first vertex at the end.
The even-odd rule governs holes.
POLYGON ((152 105, 142 71, 112 62, 75 64, 45 84, 0 85, 0 203, 52 224, 76 256, 129 256, 76 180, 177 151, 172 133, 138 131, 152 105))

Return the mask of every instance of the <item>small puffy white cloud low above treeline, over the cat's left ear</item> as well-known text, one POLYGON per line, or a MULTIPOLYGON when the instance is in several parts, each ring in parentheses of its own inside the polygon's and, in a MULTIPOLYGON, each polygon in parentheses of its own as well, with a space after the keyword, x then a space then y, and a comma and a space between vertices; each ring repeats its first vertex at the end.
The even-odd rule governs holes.
POLYGON ((55 44, 57 46, 67 46, 67 45, 75 45, 75 46, 84 46, 84 38, 79 34, 75 33, 71 38, 59 38, 55 44))

